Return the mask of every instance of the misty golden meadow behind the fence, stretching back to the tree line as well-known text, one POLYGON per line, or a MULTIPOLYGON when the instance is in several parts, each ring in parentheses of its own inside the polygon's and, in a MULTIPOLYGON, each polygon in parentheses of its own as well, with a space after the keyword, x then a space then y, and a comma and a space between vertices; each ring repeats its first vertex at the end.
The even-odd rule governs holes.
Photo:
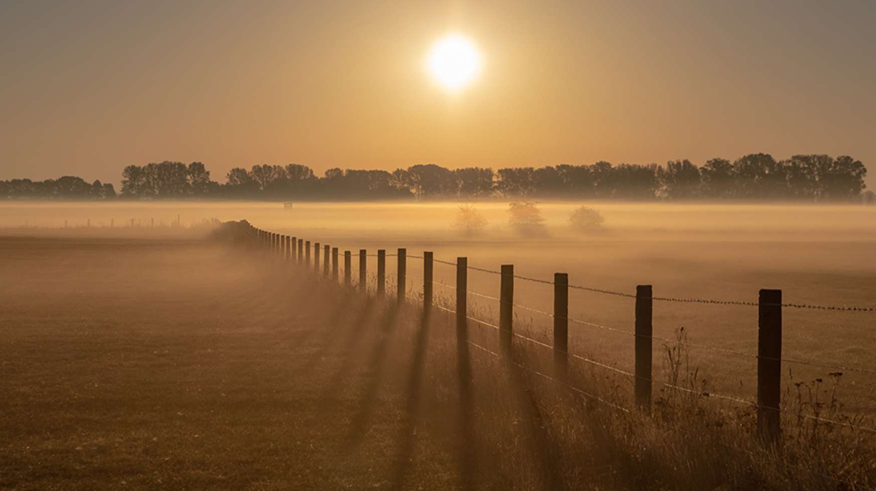
MULTIPOLYGON (((876 305, 876 207, 587 203, 604 215, 604 228, 576 233, 567 223, 579 206, 574 202, 540 203, 543 235, 519 235, 507 224, 507 203, 474 204, 488 222, 482 234, 464 236, 452 223, 458 203, 20 203, 4 204, 0 227, 14 234, 150 236, 212 219, 248 220, 254 226, 311 242, 329 243, 357 256, 358 249, 392 254, 405 247, 409 255, 432 250, 436 259, 498 270, 512 263, 523 277, 550 280, 569 273, 569 283, 608 291, 634 293, 637 284, 653 284, 654 295, 669 298, 757 300, 761 288, 781 289, 785 303, 809 305, 876 305), (67 228, 64 229, 64 221, 67 228), (134 227, 131 228, 133 220, 134 227), (91 227, 84 225, 90 221, 91 227), (112 223, 114 227, 110 228, 112 223), (152 223, 157 224, 152 228, 152 223)), ((343 252, 342 252, 343 254, 343 252)), ((369 257, 370 273, 376 258, 369 257)), ((343 261, 342 261, 343 262, 343 261)), ((357 268, 357 265, 353 265, 357 268)), ((409 288, 421 290, 421 262, 410 259, 409 288)), ((387 261, 387 275, 395 263, 387 261)), ((436 294, 452 298, 456 272, 436 264, 434 279, 447 288, 436 294)), ((357 277, 354 273, 353 277, 357 277)), ((469 287, 498 296, 498 276, 470 271, 469 287)), ((548 284, 518 280, 515 302, 550 312, 553 290, 548 284)), ((599 326, 632 330, 633 300, 573 290, 569 314, 599 326)), ((470 305, 486 321, 498 316, 495 302, 470 296, 470 305)), ((550 340, 551 319, 516 309, 521 329, 538 340, 550 340)), ((783 356, 830 367, 873 368, 876 346, 872 312, 790 309, 783 312, 783 356)), ((757 307, 656 302, 654 335, 675 339, 684 328, 694 344, 745 354, 757 353, 757 307)), ((623 370, 632 370, 632 338, 597 326, 570 326, 570 347, 578 354, 623 370)), ((655 348, 665 347, 655 342, 655 348)), ((703 390, 752 400, 756 360, 752 356, 691 348, 690 366, 698 369, 703 390)), ((661 357, 655 355, 655 363, 661 357)), ((858 414, 876 409, 872 374, 806 364, 786 363, 785 388, 794 397, 795 383, 811 385, 842 371, 837 393, 844 410, 858 414)), ((655 368, 655 374, 660 370, 655 368)), ((833 380, 833 379, 830 379, 833 380)))

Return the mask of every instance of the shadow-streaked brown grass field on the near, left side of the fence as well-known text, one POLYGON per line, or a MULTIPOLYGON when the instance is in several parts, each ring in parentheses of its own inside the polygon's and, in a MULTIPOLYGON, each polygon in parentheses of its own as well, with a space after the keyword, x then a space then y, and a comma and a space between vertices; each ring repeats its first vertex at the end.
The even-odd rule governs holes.
POLYGON ((0 270, 0 487, 874 484, 868 438, 799 428, 775 452, 751 411, 667 398, 662 418, 618 413, 458 358, 451 319, 250 249, 11 236, 0 270))

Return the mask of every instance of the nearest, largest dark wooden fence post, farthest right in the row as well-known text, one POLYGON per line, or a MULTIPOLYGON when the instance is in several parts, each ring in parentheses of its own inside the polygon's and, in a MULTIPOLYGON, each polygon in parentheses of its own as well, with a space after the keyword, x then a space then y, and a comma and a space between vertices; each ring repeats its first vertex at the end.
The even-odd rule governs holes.
POLYGON ((781 420, 781 290, 761 290, 758 298, 758 434, 779 438, 781 420))

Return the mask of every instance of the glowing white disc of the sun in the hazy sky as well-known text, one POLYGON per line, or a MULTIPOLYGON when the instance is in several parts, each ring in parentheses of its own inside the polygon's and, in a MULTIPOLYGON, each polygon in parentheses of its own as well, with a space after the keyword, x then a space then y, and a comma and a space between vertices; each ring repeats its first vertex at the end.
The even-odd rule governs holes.
POLYGON ((468 39, 450 34, 434 44, 427 67, 442 86, 456 90, 475 79, 481 69, 481 55, 468 39))

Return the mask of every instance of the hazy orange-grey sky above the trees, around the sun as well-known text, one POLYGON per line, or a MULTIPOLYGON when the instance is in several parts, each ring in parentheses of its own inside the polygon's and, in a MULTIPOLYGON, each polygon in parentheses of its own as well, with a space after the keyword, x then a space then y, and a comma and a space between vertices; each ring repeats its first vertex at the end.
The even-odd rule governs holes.
POLYGON ((0 179, 200 160, 383 168, 850 154, 876 2, 0 0, 0 179), (456 94, 435 39, 477 43, 456 94))

